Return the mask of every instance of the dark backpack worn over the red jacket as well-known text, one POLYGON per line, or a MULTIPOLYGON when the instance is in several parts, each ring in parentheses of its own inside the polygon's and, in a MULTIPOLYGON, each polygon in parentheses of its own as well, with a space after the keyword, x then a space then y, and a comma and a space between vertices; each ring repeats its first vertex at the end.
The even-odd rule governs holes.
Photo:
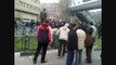
POLYGON ((40 43, 47 43, 47 42, 49 42, 48 32, 49 32, 49 29, 48 29, 48 28, 44 28, 44 29, 40 29, 40 28, 39 28, 38 41, 39 41, 40 43))

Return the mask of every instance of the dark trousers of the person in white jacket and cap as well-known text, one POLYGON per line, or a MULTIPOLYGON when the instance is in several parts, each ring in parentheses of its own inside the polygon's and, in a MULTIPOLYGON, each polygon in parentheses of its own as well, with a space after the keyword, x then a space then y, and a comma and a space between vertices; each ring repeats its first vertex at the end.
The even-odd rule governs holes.
POLYGON ((66 52, 66 41, 65 40, 60 40, 59 56, 61 56, 61 54, 64 56, 65 52, 66 52))

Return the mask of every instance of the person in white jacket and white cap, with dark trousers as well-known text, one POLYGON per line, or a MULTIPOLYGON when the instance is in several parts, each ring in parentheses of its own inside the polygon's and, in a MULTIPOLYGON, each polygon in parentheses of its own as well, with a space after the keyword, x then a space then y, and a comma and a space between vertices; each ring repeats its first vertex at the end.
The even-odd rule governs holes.
POLYGON ((66 51, 66 44, 67 44, 67 34, 68 34, 69 29, 68 29, 68 24, 65 24, 64 26, 62 26, 57 31, 56 35, 59 36, 59 41, 60 41, 60 46, 59 46, 59 56, 61 57, 65 55, 65 51, 66 51), (62 52, 63 50, 63 52, 62 52))

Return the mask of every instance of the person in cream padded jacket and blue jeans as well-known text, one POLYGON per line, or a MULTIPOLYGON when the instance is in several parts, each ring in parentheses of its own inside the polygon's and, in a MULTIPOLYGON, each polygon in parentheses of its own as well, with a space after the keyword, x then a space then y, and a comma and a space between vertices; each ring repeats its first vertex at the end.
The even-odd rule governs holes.
POLYGON ((78 29, 76 30, 76 34, 78 36, 78 50, 76 51, 75 65, 81 65, 82 50, 85 49, 86 31, 81 28, 80 23, 78 23, 78 29))

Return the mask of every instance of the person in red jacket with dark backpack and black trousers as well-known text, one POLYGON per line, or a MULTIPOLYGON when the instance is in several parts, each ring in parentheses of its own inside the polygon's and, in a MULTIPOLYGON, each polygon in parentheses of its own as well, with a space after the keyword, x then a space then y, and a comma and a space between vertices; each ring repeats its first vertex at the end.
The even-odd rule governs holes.
POLYGON ((52 34, 51 34, 51 27, 49 26, 49 21, 42 21, 42 24, 38 27, 37 30, 37 38, 38 38, 38 47, 35 53, 35 56, 33 58, 34 64, 37 63, 37 57, 40 53, 40 50, 42 48, 42 56, 41 56, 41 63, 46 63, 46 53, 48 49, 48 44, 52 44, 52 34))

